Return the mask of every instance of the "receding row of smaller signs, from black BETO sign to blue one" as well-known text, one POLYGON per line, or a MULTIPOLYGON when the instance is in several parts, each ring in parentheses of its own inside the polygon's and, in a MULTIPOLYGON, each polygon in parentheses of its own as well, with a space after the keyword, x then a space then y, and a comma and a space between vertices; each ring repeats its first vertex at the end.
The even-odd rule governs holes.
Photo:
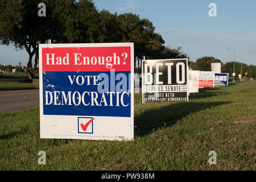
POLYGON ((199 88, 228 86, 229 73, 189 71, 187 59, 142 60, 142 102, 188 101, 199 88))

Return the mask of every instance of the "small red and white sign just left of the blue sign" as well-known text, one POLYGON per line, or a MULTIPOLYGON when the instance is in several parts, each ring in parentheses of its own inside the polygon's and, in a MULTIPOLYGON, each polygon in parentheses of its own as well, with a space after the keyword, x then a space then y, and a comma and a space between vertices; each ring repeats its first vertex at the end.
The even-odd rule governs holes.
POLYGON ((199 72, 199 88, 214 87, 214 72, 199 72))

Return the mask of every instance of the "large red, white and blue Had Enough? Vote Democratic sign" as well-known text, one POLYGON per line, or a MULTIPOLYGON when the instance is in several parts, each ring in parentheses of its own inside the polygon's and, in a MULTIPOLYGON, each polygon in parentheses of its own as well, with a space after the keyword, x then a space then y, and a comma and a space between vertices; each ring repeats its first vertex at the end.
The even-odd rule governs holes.
POLYGON ((133 43, 40 44, 40 137, 134 138, 133 43))

